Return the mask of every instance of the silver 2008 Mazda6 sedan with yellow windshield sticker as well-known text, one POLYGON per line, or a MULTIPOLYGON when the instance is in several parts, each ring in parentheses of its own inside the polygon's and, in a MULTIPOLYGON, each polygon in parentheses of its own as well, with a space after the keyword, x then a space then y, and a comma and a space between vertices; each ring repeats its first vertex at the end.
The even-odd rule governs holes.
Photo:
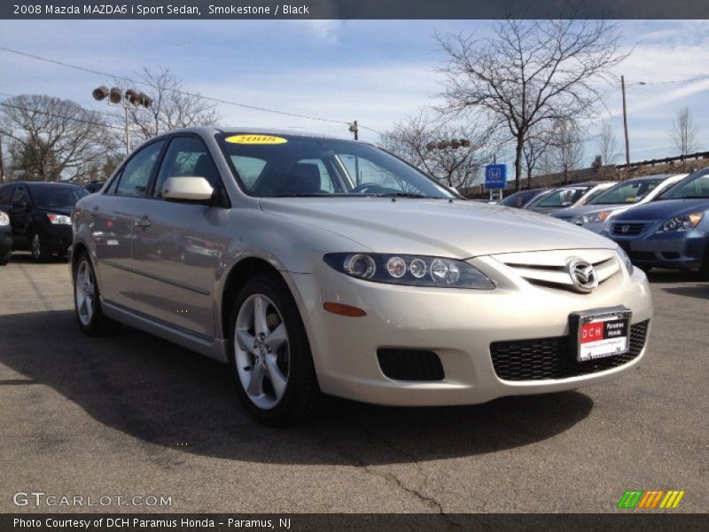
POLYGON ((619 377, 651 294, 610 239, 468 202, 374 146, 181 129, 73 215, 83 332, 135 326, 230 363, 257 419, 327 395, 487 402, 619 377))

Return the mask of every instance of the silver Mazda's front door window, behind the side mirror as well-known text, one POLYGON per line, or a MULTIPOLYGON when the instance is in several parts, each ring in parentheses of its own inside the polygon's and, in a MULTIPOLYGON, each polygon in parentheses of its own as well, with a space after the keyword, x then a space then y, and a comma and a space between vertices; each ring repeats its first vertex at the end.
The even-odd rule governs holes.
POLYGON ((206 145, 195 137, 175 137, 162 160, 153 196, 162 196, 162 187, 170 177, 204 177, 214 189, 220 183, 212 156, 206 145))

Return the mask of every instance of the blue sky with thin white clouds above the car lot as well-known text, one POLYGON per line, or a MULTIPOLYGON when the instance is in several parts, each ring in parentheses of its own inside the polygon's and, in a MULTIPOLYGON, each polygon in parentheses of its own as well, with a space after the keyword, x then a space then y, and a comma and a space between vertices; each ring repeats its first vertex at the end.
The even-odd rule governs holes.
MULTIPOLYGON (((627 90, 631 159, 676 153, 668 137, 674 115, 688 106, 709 150, 709 21, 621 21, 631 56, 617 69, 627 90), (646 82, 638 85, 637 82, 646 82)), ((432 105, 444 59, 434 35, 460 30, 485 35, 479 20, 27 20, 0 21, 0 45, 99 71, 130 75, 168 67, 189 90, 205 95, 372 129, 432 105)), ((90 91, 110 79, 0 51, 0 92, 49 93, 108 111, 90 91)), ((604 120, 622 145, 619 87, 608 87, 604 120)), ((146 90, 149 92, 149 90, 146 90)), ((3 98, 4 94, 0 94, 3 98)), ((348 137, 347 126, 219 106, 224 123, 308 130, 348 137)), ((586 124, 596 133, 600 120, 586 124)), ((361 138, 377 135, 362 130, 361 138)), ((594 148, 588 143, 587 161, 594 148)))

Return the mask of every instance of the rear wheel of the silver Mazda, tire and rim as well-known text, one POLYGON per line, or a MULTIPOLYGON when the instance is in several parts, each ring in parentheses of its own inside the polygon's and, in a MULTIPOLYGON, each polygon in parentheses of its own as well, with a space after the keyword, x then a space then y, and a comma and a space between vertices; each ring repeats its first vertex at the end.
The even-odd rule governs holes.
POLYGON ((105 317, 99 295, 93 265, 89 254, 84 252, 74 266, 74 309, 79 328, 88 336, 115 332, 121 326, 105 317))

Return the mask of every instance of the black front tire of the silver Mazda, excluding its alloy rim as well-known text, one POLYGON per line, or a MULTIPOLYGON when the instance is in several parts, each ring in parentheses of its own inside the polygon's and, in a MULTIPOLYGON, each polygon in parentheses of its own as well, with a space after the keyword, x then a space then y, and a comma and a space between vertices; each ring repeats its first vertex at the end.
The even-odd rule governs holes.
MULTIPOLYGON (((254 333, 255 336, 255 333, 254 333)), ((238 292, 229 319, 230 367, 236 380, 239 399, 254 419, 269 426, 293 426, 315 419, 323 413, 328 398, 320 391, 317 383, 313 357, 310 353, 308 336, 293 301, 282 278, 275 273, 260 274, 246 281, 238 292), (287 332, 288 372, 284 393, 275 406, 268 409, 253 403, 246 393, 237 368, 237 354, 234 332, 238 312, 245 302, 254 295, 268 298, 282 318, 287 332)), ((270 352, 270 351, 269 351, 270 352)), ((254 363, 253 366, 256 364, 254 363)), ((244 370, 246 368, 243 368, 244 370)), ((253 368, 255 370, 255 367, 253 368)), ((268 384, 269 376, 264 374, 263 384, 268 384)), ((275 394, 274 394, 275 395, 275 394)))

